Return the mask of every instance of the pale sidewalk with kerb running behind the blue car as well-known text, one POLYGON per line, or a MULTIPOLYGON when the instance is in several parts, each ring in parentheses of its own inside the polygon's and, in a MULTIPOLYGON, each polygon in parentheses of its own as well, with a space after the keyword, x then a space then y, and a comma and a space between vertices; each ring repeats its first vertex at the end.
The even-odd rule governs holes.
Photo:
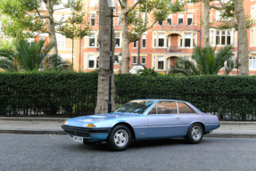
MULTIPOLYGON (((0 118, 0 134, 66 134, 62 122, 68 118, 0 118)), ((256 122, 220 121, 218 129, 205 137, 256 138, 256 122)))

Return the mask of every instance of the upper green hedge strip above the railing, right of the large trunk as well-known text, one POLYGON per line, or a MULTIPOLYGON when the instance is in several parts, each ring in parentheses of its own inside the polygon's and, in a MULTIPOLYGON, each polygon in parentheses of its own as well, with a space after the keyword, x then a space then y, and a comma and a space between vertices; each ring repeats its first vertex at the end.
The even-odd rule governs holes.
POLYGON ((126 93, 256 94, 255 76, 141 77, 117 75, 115 83, 117 92, 126 93))

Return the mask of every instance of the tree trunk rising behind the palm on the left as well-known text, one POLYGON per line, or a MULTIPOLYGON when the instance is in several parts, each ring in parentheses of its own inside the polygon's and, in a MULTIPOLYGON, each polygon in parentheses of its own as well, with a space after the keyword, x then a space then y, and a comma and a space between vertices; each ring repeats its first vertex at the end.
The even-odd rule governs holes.
POLYGON ((47 1, 46 3, 46 15, 51 18, 51 20, 47 20, 47 28, 49 32, 49 38, 50 38, 50 43, 51 44, 56 44, 54 48, 51 50, 51 54, 57 54, 58 53, 58 47, 57 47, 57 40, 55 36, 55 24, 54 24, 54 5, 51 1, 47 1))

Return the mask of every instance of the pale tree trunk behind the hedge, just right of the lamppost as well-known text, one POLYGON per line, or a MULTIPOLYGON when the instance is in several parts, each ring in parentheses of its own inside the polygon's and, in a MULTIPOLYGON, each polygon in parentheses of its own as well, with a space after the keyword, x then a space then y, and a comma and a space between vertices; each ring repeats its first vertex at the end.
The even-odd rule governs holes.
POLYGON ((129 73, 129 38, 128 38, 128 13, 127 0, 123 1, 123 8, 121 8, 121 32, 122 32, 122 73, 129 73))

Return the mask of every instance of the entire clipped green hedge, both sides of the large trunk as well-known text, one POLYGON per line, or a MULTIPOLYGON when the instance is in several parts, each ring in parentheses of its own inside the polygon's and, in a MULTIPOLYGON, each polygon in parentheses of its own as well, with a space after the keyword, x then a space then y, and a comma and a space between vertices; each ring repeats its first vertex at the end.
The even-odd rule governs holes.
MULTIPOLYGON (((97 72, 0 74, 0 115, 85 115, 95 110, 97 72)), ((256 77, 142 77, 115 75, 116 104, 133 99, 177 99, 191 102, 219 118, 255 119, 256 77)))

